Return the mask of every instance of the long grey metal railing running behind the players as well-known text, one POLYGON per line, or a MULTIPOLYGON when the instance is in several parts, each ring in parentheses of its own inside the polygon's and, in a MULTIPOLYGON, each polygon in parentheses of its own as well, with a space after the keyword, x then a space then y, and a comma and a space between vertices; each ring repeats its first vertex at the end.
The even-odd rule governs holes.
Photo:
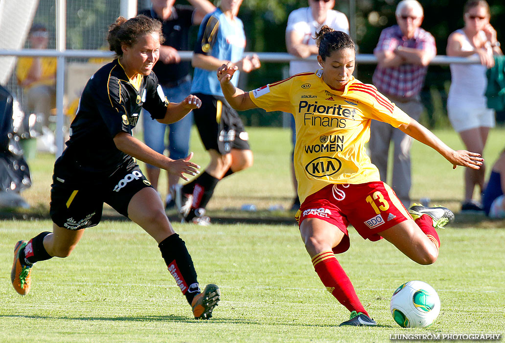
MULTIPOLYGON (((64 11, 64 9, 59 9, 64 11)), ((252 52, 246 52, 247 54, 252 54, 252 52)), ((314 60, 315 56, 311 56, 307 59, 301 59, 294 57, 288 53, 256 53, 260 60, 264 63, 287 63, 290 61, 297 60, 314 60)), ((180 51, 179 55, 181 60, 189 61, 193 55, 192 51, 180 51)), ((63 94, 65 90, 65 61, 67 58, 114 58, 114 53, 109 51, 99 51, 99 50, 65 50, 58 46, 57 50, 51 49, 23 49, 23 50, 6 50, 0 49, 0 56, 17 56, 17 57, 56 57, 58 59, 58 69, 56 75, 56 156, 60 156, 63 152, 63 94)), ((372 54, 357 54, 356 62, 359 64, 376 64, 377 58, 372 54)), ((438 55, 433 58, 431 65, 448 65, 450 63, 457 64, 474 64, 480 63, 477 56, 472 57, 449 57, 444 55, 438 55)))

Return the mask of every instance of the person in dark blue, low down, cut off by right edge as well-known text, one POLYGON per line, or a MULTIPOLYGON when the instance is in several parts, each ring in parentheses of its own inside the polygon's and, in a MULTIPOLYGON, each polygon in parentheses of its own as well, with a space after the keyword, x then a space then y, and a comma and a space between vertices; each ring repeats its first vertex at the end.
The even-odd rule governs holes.
POLYGON ((482 196, 484 212, 489 218, 505 218, 505 150, 494 163, 482 196))

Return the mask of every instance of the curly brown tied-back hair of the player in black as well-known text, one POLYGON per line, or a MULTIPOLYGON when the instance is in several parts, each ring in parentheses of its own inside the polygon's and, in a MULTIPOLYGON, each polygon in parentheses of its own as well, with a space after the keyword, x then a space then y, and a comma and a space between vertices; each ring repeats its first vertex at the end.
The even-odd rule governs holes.
POLYGON ((109 50, 114 51, 117 56, 123 55, 121 44, 131 47, 135 45, 138 37, 157 32, 160 35, 160 44, 165 40, 162 34, 161 22, 144 15, 126 19, 118 17, 116 22, 109 26, 107 41, 109 50))

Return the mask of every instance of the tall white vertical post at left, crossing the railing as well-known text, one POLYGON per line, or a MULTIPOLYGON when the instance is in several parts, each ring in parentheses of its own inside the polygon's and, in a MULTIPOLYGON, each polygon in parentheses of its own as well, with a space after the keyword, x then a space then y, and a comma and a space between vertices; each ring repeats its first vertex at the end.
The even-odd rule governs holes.
MULTIPOLYGON (((63 53, 66 50, 66 30, 67 30, 67 2, 66 0, 56 0, 56 50, 63 53)), ((65 94, 65 55, 57 57, 56 70, 56 157, 63 152, 63 97, 65 94)))

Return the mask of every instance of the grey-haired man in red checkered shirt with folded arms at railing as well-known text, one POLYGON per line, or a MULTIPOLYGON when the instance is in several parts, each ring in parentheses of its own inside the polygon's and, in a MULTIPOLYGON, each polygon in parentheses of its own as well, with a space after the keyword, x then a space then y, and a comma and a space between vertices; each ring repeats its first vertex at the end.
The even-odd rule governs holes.
MULTIPOLYGON (((416 0, 402 0, 396 7, 398 25, 382 30, 374 55, 377 68, 373 83, 401 110, 419 120, 423 105, 419 93, 428 64, 436 55, 435 39, 420 26, 423 8, 416 0)), ((390 142, 394 144, 392 188, 404 206, 409 208, 411 188, 410 148, 412 138, 387 123, 372 120, 370 157, 386 182, 390 142)))

